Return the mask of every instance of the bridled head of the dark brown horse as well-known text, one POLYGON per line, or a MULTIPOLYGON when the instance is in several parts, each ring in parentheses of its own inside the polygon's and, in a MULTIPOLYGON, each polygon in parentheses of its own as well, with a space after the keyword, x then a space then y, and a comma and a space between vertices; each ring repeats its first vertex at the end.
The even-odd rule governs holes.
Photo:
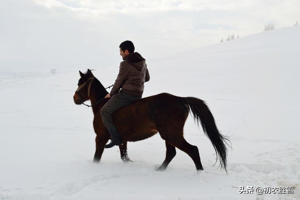
POLYGON ((95 76, 92 74, 91 70, 87 70, 86 73, 82 73, 79 71, 80 79, 78 80, 78 89, 75 91, 75 94, 73 96, 74 103, 77 105, 82 104, 83 102, 89 100, 89 89, 91 82, 95 78, 95 76))

